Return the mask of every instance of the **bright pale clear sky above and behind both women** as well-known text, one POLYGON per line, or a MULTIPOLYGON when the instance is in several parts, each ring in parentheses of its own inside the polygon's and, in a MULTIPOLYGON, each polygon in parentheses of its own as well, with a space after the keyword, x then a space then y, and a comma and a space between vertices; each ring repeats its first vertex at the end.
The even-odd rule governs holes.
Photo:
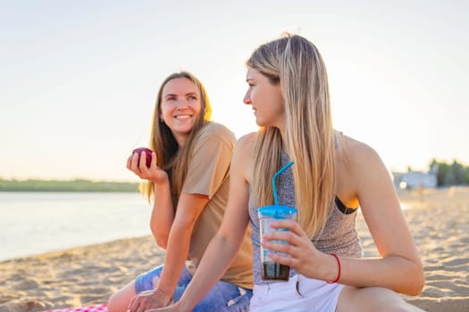
POLYGON ((213 119, 256 129, 245 61, 284 31, 330 77, 334 126, 389 170, 469 165, 469 4, 460 1, 0 1, 0 178, 137 181, 158 86, 189 70, 213 119))

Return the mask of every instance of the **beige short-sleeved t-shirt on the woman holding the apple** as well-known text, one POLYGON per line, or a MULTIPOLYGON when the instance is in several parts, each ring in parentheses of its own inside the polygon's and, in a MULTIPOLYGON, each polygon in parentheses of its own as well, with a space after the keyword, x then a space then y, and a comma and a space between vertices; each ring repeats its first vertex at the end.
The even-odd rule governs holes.
MULTIPOLYGON (((208 196, 209 201, 197 218, 192 232, 188 268, 197 267, 209 242, 222 224, 230 187, 230 161, 236 137, 227 127, 211 122, 197 138, 192 150, 188 173, 181 193, 197 193, 208 196)), ((252 289, 252 247, 249 241, 250 227, 239 253, 222 280, 240 287, 252 289)))

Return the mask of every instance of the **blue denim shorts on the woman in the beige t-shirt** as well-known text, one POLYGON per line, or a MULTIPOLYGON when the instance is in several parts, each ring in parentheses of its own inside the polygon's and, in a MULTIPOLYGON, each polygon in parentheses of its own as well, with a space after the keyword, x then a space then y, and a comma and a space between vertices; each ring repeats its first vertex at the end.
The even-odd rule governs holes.
MULTIPOLYGON (((160 266, 147 273, 138 275, 135 279, 135 291, 138 293, 155 289, 153 279, 155 276, 160 277, 162 271, 163 266, 160 266)), ((186 290, 191 280, 192 275, 188 272, 187 267, 184 266, 176 289, 174 290, 173 300, 175 302, 180 300, 182 293, 186 290)), ((214 285, 214 288, 198 302, 197 306, 192 311, 249 311, 249 300, 252 295, 252 290, 239 287, 233 283, 219 281, 214 285)))

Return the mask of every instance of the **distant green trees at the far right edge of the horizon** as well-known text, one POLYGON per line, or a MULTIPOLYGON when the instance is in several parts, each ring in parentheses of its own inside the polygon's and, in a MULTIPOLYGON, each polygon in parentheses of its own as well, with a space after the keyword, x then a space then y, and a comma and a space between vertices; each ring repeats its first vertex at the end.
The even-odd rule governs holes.
POLYGON ((469 167, 457 162, 431 160, 430 171, 436 172, 438 186, 469 185, 469 167))

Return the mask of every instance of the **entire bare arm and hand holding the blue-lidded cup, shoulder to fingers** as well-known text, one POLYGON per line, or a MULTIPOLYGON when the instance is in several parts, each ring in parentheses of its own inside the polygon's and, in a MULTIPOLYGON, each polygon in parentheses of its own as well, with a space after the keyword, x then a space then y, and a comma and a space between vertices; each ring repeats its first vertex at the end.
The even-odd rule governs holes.
MULTIPOLYGON (((365 144, 352 140, 345 149, 347 158, 342 157, 338 172, 339 198, 360 203, 381 258, 339 257, 339 283, 356 287, 386 287, 410 295, 420 293, 424 283, 423 266, 388 170, 378 154, 365 144)), ((337 260, 316 250, 296 222, 278 221, 271 226, 290 229, 290 232, 264 235, 262 243, 265 248, 286 252, 290 256, 271 254, 273 260, 294 267, 310 278, 336 279, 339 273, 337 260), (289 245, 270 242, 272 240, 285 240, 289 245)))

